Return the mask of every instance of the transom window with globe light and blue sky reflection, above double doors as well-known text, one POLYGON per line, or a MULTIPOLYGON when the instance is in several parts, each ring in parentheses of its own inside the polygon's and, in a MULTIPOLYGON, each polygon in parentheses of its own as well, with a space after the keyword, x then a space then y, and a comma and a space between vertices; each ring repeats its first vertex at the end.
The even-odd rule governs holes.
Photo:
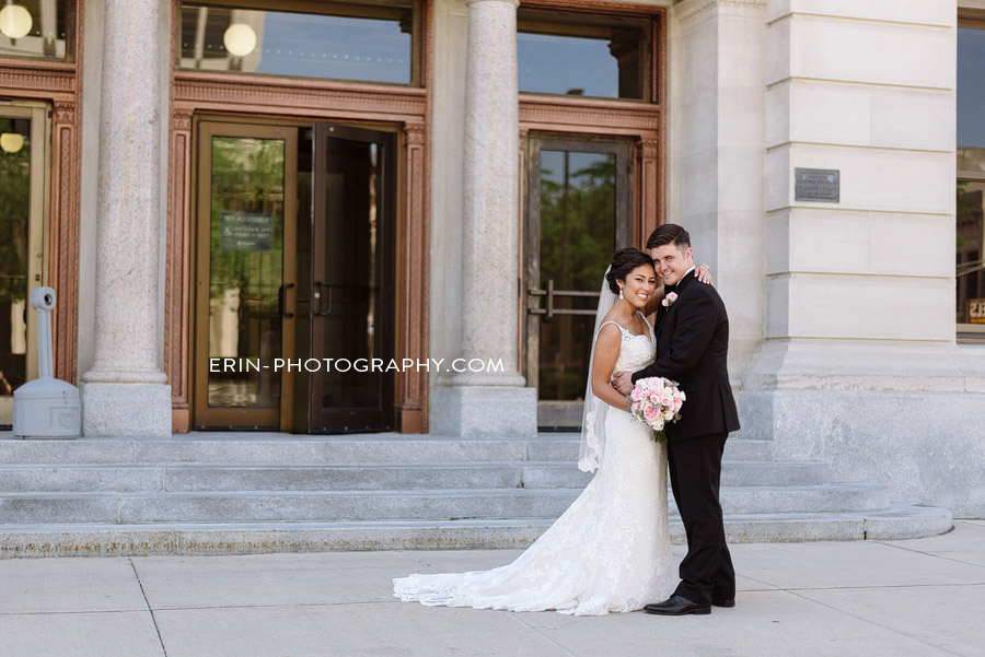
POLYGON ((183 2, 179 67, 268 75, 409 84, 414 81, 412 7, 282 3, 259 11, 183 2))

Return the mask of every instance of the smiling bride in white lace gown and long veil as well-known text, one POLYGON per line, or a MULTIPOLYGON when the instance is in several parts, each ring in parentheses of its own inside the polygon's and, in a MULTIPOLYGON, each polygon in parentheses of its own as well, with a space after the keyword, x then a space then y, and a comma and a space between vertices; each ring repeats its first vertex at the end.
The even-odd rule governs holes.
POLYGON ((613 372, 656 357, 644 310, 658 290, 650 257, 615 253, 595 318, 578 467, 595 477, 557 521, 509 565, 393 580, 394 596, 428 606, 599 615, 641 609, 670 594, 667 445, 627 412, 613 372))

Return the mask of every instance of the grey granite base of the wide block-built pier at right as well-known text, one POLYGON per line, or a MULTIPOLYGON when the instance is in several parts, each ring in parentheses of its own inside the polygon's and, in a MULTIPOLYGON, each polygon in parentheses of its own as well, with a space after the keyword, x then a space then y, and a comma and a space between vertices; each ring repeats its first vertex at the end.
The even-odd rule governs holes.
POLYGON ((826 461, 833 481, 890 486, 894 503, 985 517, 985 394, 743 390, 743 438, 772 439, 779 461, 826 461))

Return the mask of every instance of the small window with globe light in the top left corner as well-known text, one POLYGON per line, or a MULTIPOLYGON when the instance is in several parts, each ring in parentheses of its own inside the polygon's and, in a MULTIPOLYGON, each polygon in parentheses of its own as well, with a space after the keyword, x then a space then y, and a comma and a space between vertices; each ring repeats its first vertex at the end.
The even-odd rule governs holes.
POLYGON ((69 0, 0 2, 0 57, 71 60, 69 0))

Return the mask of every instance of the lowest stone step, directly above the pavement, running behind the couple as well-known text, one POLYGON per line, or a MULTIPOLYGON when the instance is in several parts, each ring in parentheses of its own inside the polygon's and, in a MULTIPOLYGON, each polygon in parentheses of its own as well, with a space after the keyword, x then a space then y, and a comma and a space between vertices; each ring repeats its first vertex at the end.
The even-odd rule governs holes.
MULTIPOLYGON (((526 548, 551 526, 549 519, 166 524, 4 525, 0 559, 48 556, 150 556, 260 554, 339 550, 467 550, 526 548)), ((925 506, 841 514, 727 515, 730 543, 776 541, 885 540, 948 531, 951 514, 925 506)), ((671 540, 685 542, 680 520, 671 519, 671 540)))

